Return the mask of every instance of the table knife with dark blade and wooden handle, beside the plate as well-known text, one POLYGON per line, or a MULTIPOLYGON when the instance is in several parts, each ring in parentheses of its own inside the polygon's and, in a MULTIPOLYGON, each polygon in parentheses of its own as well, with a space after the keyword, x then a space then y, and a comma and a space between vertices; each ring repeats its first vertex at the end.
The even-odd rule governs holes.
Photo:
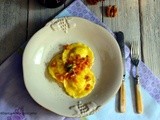
POLYGON ((119 90, 119 111, 124 113, 126 111, 126 89, 125 89, 125 49, 124 49, 124 34, 123 32, 115 32, 116 40, 119 44, 122 61, 123 61, 123 79, 119 90))

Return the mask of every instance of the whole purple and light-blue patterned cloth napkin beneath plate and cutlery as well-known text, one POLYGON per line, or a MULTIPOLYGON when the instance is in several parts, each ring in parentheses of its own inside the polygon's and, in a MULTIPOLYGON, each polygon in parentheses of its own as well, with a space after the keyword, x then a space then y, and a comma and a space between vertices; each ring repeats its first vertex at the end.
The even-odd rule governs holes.
MULTIPOLYGON (((58 16, 79 16, 105 27, 111 34, 112 31, 103 24, 82 2, 75 0, 58 16)), ((114 34, 113 34, 114 35, 114 34)), ((125 46, 126 58, 126 112, 117 110, 117 96, 112 98, 99 112, 90 115, 85 120, 158 120, 160 119, 160 80, 153 75, 147 66, 140 61, 139 73, 141 92, 144 103, 144 113, 135 111, 135 96, 133 78, 135 68, 130 62, 130 51, 125 46)), ((107 91, 106 91, 107 92, 107 91)), ((0 66, 0 120, 76 120, 78 118, 65 118, 52 113, 41 106, 28 94, 22 73, 22 52, 19 50, 9 57, 0 66)))

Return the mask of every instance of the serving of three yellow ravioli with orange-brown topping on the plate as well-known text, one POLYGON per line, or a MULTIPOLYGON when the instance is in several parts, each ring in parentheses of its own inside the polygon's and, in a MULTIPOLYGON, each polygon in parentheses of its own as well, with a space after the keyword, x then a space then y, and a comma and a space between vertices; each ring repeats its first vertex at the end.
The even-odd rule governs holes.
POLYGON ((73 98, 87 96, 94 89, 96 78, 91 70, 94 62, 92 50, 83 43, 65 45, 61 53, 55 55, 48 72, 65 92, 73 98))

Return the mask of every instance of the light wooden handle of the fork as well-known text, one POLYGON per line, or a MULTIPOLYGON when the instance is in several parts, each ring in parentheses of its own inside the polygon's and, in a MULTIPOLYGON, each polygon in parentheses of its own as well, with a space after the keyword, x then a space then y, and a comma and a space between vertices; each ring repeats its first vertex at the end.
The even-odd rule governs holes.
POLYGON ((140 84, 136 84, 136 109, 137 113, 141 114, 143 113, 143 102, 142 102, 142 95, 141 95, 141 90, 140 90, 140 84))

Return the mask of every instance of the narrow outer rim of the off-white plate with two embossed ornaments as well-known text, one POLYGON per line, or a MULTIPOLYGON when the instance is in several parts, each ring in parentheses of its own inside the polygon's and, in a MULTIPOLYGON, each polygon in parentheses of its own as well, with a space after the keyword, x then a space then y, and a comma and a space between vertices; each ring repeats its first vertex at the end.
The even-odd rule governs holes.
MULTIPOLYGON (((63 18, 58 18, 58 19, 53 19, 52 21, 50 21, 50 22, 48 22, 47 24, 46 24, 46 26, 44 26, 42 29, 40 29, 38 32, 36 32, 33 36, 32 36, 32 38, 30 39, 30 41, 28 42, 28 44, 27 44, 27 46, 26 46, 26 48, 25 48, 25 51, 24 51, 24 54, 23 54, 23 74, 24 74, 24 82, 25 82, 25 86, 26 86, 26 88, 27 88, 27 90, 28 90, 28 92, 29 92, 29 94, 31 95, 31 97, 39 104, 39 105, 41 105, 42 107, 44 107, 44 108, 46 108, 46 109, 48 109, 48 110, 50 110, 50 111, 52 111, 52 112, 55 112, 55 113, 57 113, 57 114, 59 114, 59 115, 62 115, 62 116, 66 116, 66 117, 84 117, 84 116, 88 116, 88 115, 90 115, 90 114, 93 114, 94 112, 96 112, 97 110, 99 110, 99 108, 102 106, 102 105, 104 105, 109 99, 107 99, 107 101, 105 101, 105 102, 102 102, 101 104, 96 104, 96 102, 94 102, 94 101, 83 101, 83 99, 82 100, 77 100, 76 102, 77 102, 77 105, 75 105, 75 103, 73 104, 73 106, 78 106, 78 105, 81 105, 81 106, 84 106, 84 107, 87 107, 88 108, 88 106, 90 106, 90 104, 92 104, 93 106, 87 111, 87 112, 85 112, 85 114, 83 114, 83 113, 81 113, 80 111, 80 113, 78 113, 78 114, 70 114, 70 115, 66 115, 66 114, 63 114, 63 113, 60 113, 60 112, 57 112, 57 111, 55 111, 55 110, 53 110, 53 109, 50 109, 50 108, 48 108, 48 107, 46 107, 45 105, 44 105, 44 103, 41 103, 40 101, 39 101, 39 99, 38 98, 36 98, 33 94, 32 94, 32 90, 30 89, 30 86, 28 85, 28 80, 27 80, 27 76, 26 76, 26 59, 27 59, 27 57, 29 57, 29 52, 27 52, 28 51, 28 49, 30 49, 30 48, 32 48, 33 46, 33 44, 35 44, 34 42, 35 42, 35 37, 37 37, 39 34, 43 34, 43 32, 46 32, 45 31, 45 29, 46 28, 50 28, 50 30, 52 30, 52 31, 56 31, 56 30, 61 30, 61 32, 64 32, 64 33, 68 33, 68 30, 69 29, 72 29, 72 28, 74 28, 74 27, 77 27, 76 26, 76 24, 77 25, 79 25, 78 23, 76 23, 76 24, 74 24, 74 23, 69 23, 69 22, 72 22, 72 19, 75 19, 75 20, 82 20, 84 23, 86 23, 86 24, 89 24, 89 25, 93 25, 93 26, 95 26, 97 29, 99 29, 99 30, 102 30, 102 32, 104 32, 104 33, 106 33, 106 35, 109 35, 109 37, 111 38, 111 39, 113 39, 113 44, 117 47, 116 48, 116 50, 117 50, 117 52, 118 52, 118 59, 119 59, 119 67, 120 68, 118 68, 119 69, 119 73, 118 73, 118 78, 119 78, 119 80, 117 80, 116 82, 118 82, 118 83, 116 83, 117 85, 117 87, 116 87, 116 89, 114 90, 114 92, 112 93, 113 95, 112 96, 110 96, 109 97, 109 99, 110 98, 112 98, 116 93, 117 93, 117 91, 118 91, 118 89, 119 89, 119 87, 120 87, 120 83, 121 83, 121 80, 122 80, 122 71, 123 71, 123 69, 122 69, 122 60, 121 60, 121 53, 120 53, 120 49, 119 49, 119 47, 118 47, 118 44, 117 44, 117 42, 115 41, 115 39, 114 39, 114 37, 105 29, 105 28, 103 28, 103 27, 101 27, 101 26, 99 26, 99 25, 97 25, 97 24, 94 24, 94 23, 92 23, 91 21, 88 21, 88 20, 86 20, 86 19, 83 19, 83 18, 79 18, 79 17, 63 17, 63 18), (69 21, 69 20, 71 20, 71 21, 69 21), (57 26, 57 24, 60 22, 60 21, 62 21, 63 23, 65 23, 64 24, 64 26, 63 27, 58 27, 57 26), (72 26, 70 26, 70 24, 72 25, 72 26), (84 104, 83 104, 84 103, 84 104)), ((74 20, 73 20, 74 21, 74 20)), ((87 29, 87 28, 86 28, 87 29)), ((48 30, 48 29, 47 29, 48 30)), ((45 33, 44 33, 45 34, 45 33)), ((72 107, 73 107, 72 106, 72 107)), ((69 108, 72 108, 71 106, 69 106, 69 108)), ((77 108, 76 108, 77 109, 77 108)), ((74 109, 74 111, 76 111, 76 109, 74 109)), ((78 111, 77 111, 78 112, 78 111)))

